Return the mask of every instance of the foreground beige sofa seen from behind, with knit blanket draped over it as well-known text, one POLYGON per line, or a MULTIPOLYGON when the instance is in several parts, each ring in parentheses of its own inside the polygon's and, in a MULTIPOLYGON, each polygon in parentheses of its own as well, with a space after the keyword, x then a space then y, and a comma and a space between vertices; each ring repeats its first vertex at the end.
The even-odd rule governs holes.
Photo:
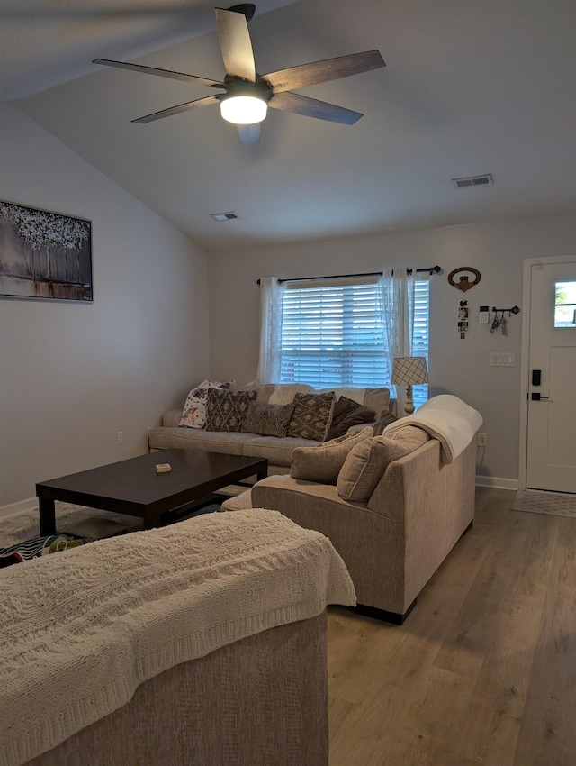
POLYGON ((210 514, 0 570, 3 766, 328 766, 329 540, 210 514))

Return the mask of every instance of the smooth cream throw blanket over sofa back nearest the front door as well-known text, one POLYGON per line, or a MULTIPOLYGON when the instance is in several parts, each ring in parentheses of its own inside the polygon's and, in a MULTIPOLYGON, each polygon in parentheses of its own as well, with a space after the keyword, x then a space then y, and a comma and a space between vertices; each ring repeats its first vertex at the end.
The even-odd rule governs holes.
POLYGON ((401 417, 387 425, 383 436, 390 436, 405 425, 417 425, 442 445, 442 460, 451 463, 472 442, 482 425, 482 415, 452 394, 428 399, 414 415, 401 417))

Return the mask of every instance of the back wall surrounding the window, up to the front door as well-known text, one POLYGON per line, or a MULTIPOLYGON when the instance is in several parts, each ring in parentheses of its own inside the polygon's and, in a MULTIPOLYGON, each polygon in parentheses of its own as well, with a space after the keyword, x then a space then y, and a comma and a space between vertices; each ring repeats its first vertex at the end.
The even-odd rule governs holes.
POLYGON ((492 335, 490 324, 478 324, 478 307, 521 308, 523 260, 574 252, 576 223, 569 215, 210 252, 211 374, 243 383, 256 376, 258 277, 438 264, 444 274, 431 278, 430 395, 455 394, 482 413, 489 444, 478 473, 486 483, 511 488, 518 479, 522 315, 512 316, 509 336, 503 337, 492 335), (478 287, 465 294, 447 282, 449 272, 463 266, 482 274, 478 287), (463 299, 472 309, 471 330, 464 341, 456 333, 463 299), (490 367, 490 351, 514 352, 516 366, 490 367))

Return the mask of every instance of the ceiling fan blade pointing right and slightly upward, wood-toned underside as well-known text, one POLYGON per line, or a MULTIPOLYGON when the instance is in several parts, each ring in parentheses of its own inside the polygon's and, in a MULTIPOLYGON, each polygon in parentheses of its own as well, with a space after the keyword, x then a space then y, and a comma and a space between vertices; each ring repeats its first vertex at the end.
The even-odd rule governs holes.
POLYGON ((274 87, 275 93, 282 93, 284 90, 348 78, 351 75, 359 75, 385 66, 379 50, 366 50, 364 53, 351 53, 349 56, 338 56, 336 59, 302 64, 300 67, 279 69, 277 72, 263 75, 263 79, 274 87))

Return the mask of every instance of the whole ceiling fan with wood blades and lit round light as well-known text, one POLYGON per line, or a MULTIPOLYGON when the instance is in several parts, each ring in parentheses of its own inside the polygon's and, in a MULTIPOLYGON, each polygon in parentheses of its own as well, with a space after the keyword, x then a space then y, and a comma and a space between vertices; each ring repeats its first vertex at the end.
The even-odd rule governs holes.
POLYGON ((145 67, 112 59, 94 59, 93 64, 106 67, 130 69, 143 74, 161 78, 184 80, 207 87, 222 88, 223 93, 205 96, 185 104, 171 106, 160 112, 146 114, 133 123, 151 123, 173 114, 187 112, 200 106, 220 104, 222 117, 238 126, 240 141, 244 144, 255 143, 260 138, 260 123, 266 117, 268 106, 284 112, 304 114, 331 123, 353 125, 360 117, 360 112, 353 112, 342 106, 326 104, 315 98, 292 93, 291 89, 316 85, 329 80, 347 78, 371 69, 385 67, 386 64, 378 50, 366 50, 364 53, 352 53, 338 56, 336 59, 314 61, 298 67, 280 69, 259 75, 256 71, 252 42, 247 23, 252 19, 256 6, 252 3, 232 5, 227 10, 216 8, 216 30, 220 50, 226 69, 222 82, 209 78, 173 72, 169 69, 145 67))

